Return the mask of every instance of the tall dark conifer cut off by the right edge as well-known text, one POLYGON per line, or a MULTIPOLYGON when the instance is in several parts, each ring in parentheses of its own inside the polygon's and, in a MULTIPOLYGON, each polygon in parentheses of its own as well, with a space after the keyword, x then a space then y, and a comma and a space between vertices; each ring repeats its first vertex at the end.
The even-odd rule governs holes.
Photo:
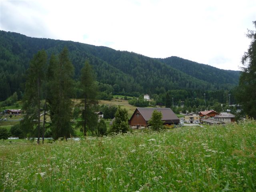
MULTIPOLYGON (((253 22, 256 28, 256 21, 253 22)), ((248 31, 251 44, 242 58, 242 74, 236 91, 236 100, 242 105, 242 113, 256 119, 256 31, 248 31)))

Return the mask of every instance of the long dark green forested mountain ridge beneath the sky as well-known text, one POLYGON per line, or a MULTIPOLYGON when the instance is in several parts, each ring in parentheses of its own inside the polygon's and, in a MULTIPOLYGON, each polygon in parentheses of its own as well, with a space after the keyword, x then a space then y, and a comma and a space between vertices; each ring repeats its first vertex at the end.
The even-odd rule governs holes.
POLYGON ((160 94, 167 90, 230 89, 238 84, 239 72, 220 70, 204 64, 171 57, 155 59, 133 52, 116 51, 72 41, 31 38, 15 32, 0 31, 0 100, 23 92, 24 74, 30 59, 44 49, 48 56, 66 46, 74 64, 75 78, 85 60, 96 72, 96 79, 112 86, 115 93, 160 94))

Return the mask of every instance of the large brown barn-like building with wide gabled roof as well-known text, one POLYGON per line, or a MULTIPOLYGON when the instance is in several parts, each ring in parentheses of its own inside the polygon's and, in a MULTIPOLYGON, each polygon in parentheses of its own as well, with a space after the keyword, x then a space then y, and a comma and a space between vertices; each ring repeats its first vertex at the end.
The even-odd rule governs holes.
POLYGON ((136 108, 129 120, 130 126, 146 127, 154 110, 162 113, 163 124, 178 124, 180 119, 170 108, 136 108))

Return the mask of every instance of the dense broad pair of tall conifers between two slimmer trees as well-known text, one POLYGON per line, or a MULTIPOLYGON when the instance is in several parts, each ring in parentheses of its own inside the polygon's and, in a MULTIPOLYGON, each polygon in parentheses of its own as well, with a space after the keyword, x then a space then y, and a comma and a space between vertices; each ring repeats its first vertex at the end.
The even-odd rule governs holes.
POLYGON ((67 139, 74 132, 71 126, 74 66, 68 58, 67 48, 62 50, 58 60, 54 56, 51 59, 48 68, 50 84, 48 102, 52 137, 67 139))

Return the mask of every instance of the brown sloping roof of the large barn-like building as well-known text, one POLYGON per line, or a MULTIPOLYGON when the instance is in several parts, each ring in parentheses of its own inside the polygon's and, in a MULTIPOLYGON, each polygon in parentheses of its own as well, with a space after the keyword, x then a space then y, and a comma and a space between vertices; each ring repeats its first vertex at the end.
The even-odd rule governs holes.
POLYGON ((176 116, 176 114, 170 108, 137 108, 142 117, 148 121, 150 120, 152 113, 154 110, 157 110, 162 113, 162 120, 165 122, 179 122, 180 119, 176 116))

